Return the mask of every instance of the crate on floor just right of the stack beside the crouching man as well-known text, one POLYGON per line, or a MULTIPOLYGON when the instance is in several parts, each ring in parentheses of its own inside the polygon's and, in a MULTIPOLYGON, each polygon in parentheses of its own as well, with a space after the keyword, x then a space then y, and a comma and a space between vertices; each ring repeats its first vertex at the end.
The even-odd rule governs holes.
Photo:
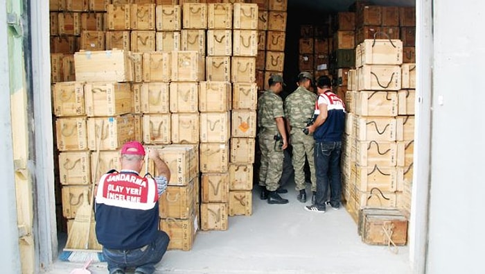
POLYGON ((202 203, 200 220, 202 230, 227 230, 227 203, 202 203))

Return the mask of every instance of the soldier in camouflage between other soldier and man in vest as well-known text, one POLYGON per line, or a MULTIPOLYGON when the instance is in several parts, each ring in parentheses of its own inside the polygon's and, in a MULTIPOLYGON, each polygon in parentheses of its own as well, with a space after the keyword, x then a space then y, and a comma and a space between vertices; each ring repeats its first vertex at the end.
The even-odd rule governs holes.
POLYGON ((313 157, 315 139, 312 135, 306 135, 303 129, 307 127, 308 119, 313 117, 317 94, 308 90, 312 85, 312 75, 307 71, 298 75, 298 85, 299 87, 285 99, 285 114, 288 132, 290 132, 290 142, 293 147, 294 182, 297 185, 297 191, 299 191, 297 199, 301 203, 306 203, 305 171, 303 170, 305 157, 310 166, 311 189, 314 195, 317 191, 317 179, 315 178, 313 157))

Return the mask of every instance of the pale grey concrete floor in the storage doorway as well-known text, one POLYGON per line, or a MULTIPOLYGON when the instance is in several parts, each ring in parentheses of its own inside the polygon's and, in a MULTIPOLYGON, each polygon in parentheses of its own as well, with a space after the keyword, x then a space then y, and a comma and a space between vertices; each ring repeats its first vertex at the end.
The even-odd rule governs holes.
MULTIPOLYGON (((197 232, 193 249, 168 251, 156 273, 412 273, 407 246, 394 254, 387 246, 362 243, 343 207, 307 212, 296 199, 294 183, 288 190, 282 196, 290 203, 269 205, 254 189, 252 216, 229 217, 227 231, 197 232)), ((58 261, 46 273, 69 273, 81 266, 58 261)), ((88 269, 107 273, 106 263, 88 269)))

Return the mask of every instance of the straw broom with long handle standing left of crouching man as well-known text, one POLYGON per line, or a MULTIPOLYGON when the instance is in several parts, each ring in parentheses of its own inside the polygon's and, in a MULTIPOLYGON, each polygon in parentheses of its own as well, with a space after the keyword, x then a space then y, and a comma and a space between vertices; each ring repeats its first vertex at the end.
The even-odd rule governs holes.
POLYGON ((86 262, 92 260, 92 262, 105 262, 103 257, 103 252, 101 252, 102 246, 98 243, 96 239, 95 222, 93 215, 93 205, 94 205, 94 187, 96 183, 94 182, 96 175, 98 175, 99 169, 99 150, 101 146, 101 136, 103 135, 104 119, 101 120, 100 132, 96 136, 96 160, 95 168, 91 185, 91 196, 90 200, 87 200, 88 191, 82 192, 82 205, 78 207, 76 212, 76 217, 74 218, 73 224, 71 226, 71 232, 67 235, 67 242, 64 250, 59 256, 62 261, 68 262, 86 262), (85 235, 85 237, 82 237, 85 235))

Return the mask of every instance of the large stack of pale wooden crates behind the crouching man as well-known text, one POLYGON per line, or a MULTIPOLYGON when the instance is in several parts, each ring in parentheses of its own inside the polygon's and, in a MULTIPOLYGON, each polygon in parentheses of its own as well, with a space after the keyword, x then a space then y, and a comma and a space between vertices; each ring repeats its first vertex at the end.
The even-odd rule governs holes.
POLYGON ((160 199, 170 249, 252 214, 258 6, 198 2, 51 0, 59 223, 76 216, 83 188, 121 168, 132 139, 172 171, 160 199))

